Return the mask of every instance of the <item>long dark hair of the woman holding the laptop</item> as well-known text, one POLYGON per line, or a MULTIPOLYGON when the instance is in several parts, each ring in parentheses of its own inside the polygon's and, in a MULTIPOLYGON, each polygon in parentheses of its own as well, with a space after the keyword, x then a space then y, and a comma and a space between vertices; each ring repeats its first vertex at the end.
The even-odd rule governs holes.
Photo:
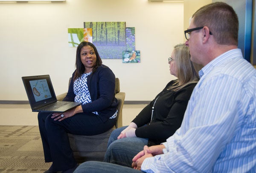
POLYGON ((99 53, 95 47, 95 45, 93 45, 93 43, 90 43, 90 42, 81 42, 78 46, 77 46, 77 49, 76 49, 76 71, 75 71, 75 75, 74 75, 74 80, 79 78, 82 74, 84 74, 84 71, 85 71, 85 68, 84 68, 84 65, 83 63, 81 62, 81 49, 84 47, 84 46, 88 46, 90 45, 91 47, 93 47, 94 49, 94 52, 96 54, 96 64, 95 66, 93 67, 93 73, 96 71, 96 69, 102 65, 102 60, 100 59, 99 57, 99 53))

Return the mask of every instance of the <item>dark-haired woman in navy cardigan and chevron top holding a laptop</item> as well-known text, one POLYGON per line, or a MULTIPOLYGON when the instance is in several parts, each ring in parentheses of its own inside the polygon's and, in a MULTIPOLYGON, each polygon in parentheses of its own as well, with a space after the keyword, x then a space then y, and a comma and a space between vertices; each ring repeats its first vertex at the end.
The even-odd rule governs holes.
POLYGON ((76 70, 63 101, 81 102, 81 105, 64 113, 38 113, 45 162, 52 162, 45 173, 73 173, 78 166, 67 133, 97 135, 116 123, 115 75, 102 65, 92 43, 78 45, 76 70))

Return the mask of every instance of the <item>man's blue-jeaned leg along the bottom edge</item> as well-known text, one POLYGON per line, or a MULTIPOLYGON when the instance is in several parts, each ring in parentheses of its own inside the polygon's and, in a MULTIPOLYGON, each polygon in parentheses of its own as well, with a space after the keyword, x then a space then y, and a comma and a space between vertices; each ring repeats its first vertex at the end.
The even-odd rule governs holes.
POLYGON ((76 168, 74 173, 145 173, 131 167, 106 162, 88 161, 76 168))

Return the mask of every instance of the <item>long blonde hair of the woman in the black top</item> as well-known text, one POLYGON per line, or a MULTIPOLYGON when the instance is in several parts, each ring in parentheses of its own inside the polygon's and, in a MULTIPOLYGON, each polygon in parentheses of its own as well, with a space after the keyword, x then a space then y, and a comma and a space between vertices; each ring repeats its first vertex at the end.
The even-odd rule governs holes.
POLYGON ((178 79, 170 89, 178 91, 190 83, 198 82, 198 71, 201 70, 203 66, 195 64, 190 60, 189 47, 185 44, 175 45, 173 51, 175 55, 174 61, 177 66, 178 79))

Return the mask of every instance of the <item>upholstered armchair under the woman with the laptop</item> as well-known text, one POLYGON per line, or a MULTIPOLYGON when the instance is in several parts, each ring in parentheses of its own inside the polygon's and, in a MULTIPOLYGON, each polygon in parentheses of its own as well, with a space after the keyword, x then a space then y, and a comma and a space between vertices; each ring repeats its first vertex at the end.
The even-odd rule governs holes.
MULTIPOLYGON (((118 114, 116 125, 113 126, 113 128, 106 131, 105 133, 94 136, 68 134, 70 139, 70 146, 78 163, 89 160, 103 161, 111 132, 116 128, 122 127, 122 107, 125 101, 125 93, 120 92, 120 83, 118 78, 116 78, 115 93, 119 104, 117 107, 118 114)), ((62 100, 66 94, 67 93, 58 95, 57 99, 62 100)))

